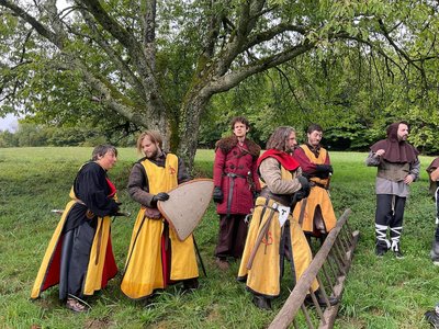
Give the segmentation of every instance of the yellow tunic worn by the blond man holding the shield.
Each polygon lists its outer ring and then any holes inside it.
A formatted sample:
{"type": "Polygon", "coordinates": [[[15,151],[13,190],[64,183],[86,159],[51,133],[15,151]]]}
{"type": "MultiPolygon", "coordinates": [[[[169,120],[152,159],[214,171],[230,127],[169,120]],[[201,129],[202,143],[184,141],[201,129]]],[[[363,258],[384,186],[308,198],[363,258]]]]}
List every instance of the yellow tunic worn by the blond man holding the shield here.
{"type": "MultiPolygon", "coordinates": [[[[172,154],[166,157],[165,168],[144,160],[142,164],[148,177],[149,193],[168,192],[178,185],[178,158],[172,154]]],[[[133,299],[148,297],[155,290],[165,288],[166,266],[164,266],[161,236],[164,218],[145,217],[145,208],[137,214],[131,238],[125,273],[122,279],[122,292],[133,299]]],[[[171,248],[170,280],[180,281],[199,276],[192,235],[180,241],[172,228],[169,228],[171,248]]]]}

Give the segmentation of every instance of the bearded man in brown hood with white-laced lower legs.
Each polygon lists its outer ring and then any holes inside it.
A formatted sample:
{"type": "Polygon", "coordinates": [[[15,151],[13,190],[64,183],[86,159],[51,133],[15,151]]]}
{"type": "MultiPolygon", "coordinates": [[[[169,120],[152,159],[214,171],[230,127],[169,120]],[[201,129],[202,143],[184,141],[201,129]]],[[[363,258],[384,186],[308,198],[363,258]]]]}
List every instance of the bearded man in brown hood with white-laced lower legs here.
{"type": "Polygon", "coordinates": [[[405,202],[408,185],[419,177],[418,151],[406,140],[408,124],[404,121],[387,127],[387,138],[371,146],[367,166],[378,167],[375,193],[375,253],[382,257],[392,250],[396,258],[403,258],[399,238],[403,231],[405,202]],[[387,239],[390,229],[390,239],[387,239]]]}

